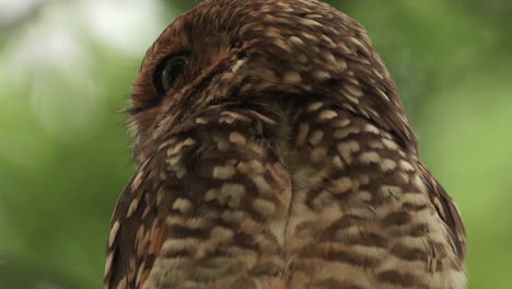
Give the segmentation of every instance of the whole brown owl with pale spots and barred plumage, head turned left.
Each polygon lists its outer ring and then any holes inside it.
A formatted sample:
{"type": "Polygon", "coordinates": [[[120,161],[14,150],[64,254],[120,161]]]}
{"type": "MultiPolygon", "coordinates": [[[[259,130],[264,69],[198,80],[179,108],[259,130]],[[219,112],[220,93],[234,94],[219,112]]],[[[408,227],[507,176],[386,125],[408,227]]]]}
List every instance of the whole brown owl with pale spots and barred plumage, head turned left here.
{"type": "Polygon", "coordinates": [[[206,0],[148,50],[105,288],[465,288],[455,204],[354,20],[206,0]]]}

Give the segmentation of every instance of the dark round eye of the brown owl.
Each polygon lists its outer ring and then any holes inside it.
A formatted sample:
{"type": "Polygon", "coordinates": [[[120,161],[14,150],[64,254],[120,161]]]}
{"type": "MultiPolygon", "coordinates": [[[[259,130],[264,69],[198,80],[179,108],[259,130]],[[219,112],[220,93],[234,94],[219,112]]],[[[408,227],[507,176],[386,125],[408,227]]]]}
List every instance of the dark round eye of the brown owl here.
{"type": "Polygon", "coordinates": [[[167,92],[173,88],[176,80],[185,71],[187,66],[187,58],[184,56],[172,56],[162,63],[155,70],[154,73],[154,85],[161,93],[167,92]]]}

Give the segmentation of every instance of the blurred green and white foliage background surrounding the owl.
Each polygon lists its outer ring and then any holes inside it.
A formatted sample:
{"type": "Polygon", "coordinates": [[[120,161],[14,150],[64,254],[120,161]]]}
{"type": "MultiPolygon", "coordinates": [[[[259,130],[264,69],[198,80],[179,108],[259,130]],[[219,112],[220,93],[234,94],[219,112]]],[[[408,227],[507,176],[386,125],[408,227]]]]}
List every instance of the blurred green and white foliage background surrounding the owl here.
{"type": "MultiPolygon", "coordinates": [[[[197,1],[0,1],[0,288],[101,288],[133,167],[121,108],[197,1]]],[[[468,231],[470,288],[512,288],[512,1],[329,1],[395,77],[468,231]]]]}

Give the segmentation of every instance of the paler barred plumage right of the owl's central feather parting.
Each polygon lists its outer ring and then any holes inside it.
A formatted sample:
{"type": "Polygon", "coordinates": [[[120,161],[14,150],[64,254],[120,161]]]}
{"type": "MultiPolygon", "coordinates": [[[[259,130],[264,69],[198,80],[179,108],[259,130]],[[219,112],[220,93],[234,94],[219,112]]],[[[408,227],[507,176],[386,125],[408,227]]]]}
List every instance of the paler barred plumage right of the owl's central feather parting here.
{"type": "Polygon", "coordinates": [[[416,155],[322,102],[291,126],[291,196],[279,228],[289,288],[464,288],[416,155]]]}

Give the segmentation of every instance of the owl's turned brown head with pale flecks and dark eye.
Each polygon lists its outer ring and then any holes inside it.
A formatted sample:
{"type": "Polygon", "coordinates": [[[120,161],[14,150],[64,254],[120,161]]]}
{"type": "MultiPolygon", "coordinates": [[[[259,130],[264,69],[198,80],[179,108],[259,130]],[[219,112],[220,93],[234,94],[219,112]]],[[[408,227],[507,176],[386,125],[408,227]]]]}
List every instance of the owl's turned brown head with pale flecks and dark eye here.
{"type": "Polygon", "coordinates": [[[149,48],[133,85],[137,146],[222,103],[331,100],[415,142],[365,30],[316,0],[205,0],[149,48]]]}

